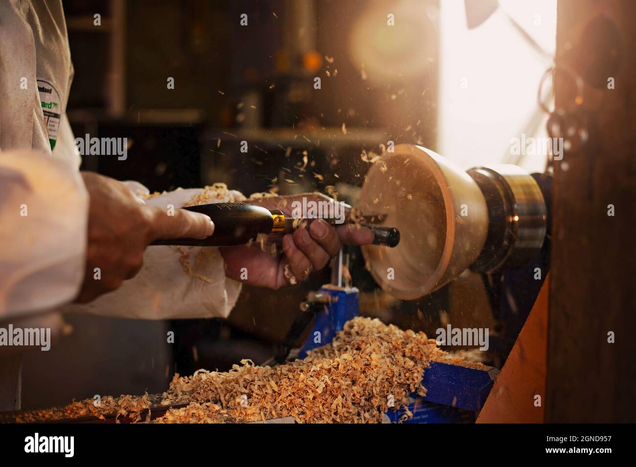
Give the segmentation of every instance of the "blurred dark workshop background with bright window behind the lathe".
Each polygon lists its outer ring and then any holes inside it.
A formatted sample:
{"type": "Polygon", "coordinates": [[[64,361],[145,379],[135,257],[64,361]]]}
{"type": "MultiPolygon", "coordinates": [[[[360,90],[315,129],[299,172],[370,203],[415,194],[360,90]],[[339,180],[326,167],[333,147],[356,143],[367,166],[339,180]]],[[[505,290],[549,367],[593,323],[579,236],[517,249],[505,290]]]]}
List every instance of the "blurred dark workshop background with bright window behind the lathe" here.
{"type": "MultiPolygon", "coordinates": [[[[74,133],[130,144],[127,160],[86,156],[82,169],[151,191],[225,182],[247,196],[317,190],[354,205],[364,151],[389,141],[464,168],[505,162],[541,172],[545,158],[509,147],[511,137],[544,132],[537,90],[550,58],[531,43],[553,55],[556,0],[499,4],[469,29],[463,0],[64,0],[74,133]],[[394,27],[382,27],[387,12],[394,27]]],[[[488,296],[480,275],[398,301],[378,289],[359,252],[352,258],[363,315],[431,337],[446,323],[490,328],[487,358],[501,367],[525,316],[495,312],[501,297],[488,296]]],[[[66,339],[25,355],[23,408],[159,393],[174,372],[264,362],[307,292],[328,281],[326,271],[285,290],[245,287],[225,321],[67,316],[66,339]]]]}

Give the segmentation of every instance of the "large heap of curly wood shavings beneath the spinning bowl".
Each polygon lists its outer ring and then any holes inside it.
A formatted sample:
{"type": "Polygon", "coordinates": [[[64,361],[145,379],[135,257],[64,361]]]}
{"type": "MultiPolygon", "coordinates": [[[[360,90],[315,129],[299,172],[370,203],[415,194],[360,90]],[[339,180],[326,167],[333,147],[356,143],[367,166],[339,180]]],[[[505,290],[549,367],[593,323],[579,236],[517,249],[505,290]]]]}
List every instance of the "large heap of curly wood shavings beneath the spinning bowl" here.
{"type": "Polygon", "coordinates": [[[214,402],[237,420],[291,416],[298,423],[378,423],[389,410],[389,396],[397,409],[413,391],[425,395],[424,369],[444,354],[423,332],[357,317],[304,360],[277,367],[242,360],[229,372],[175,375],[162,403],[190,405],[158,421],[193,421],[200,414],[209,421],[214,417],[204,403],[214,402]]]}

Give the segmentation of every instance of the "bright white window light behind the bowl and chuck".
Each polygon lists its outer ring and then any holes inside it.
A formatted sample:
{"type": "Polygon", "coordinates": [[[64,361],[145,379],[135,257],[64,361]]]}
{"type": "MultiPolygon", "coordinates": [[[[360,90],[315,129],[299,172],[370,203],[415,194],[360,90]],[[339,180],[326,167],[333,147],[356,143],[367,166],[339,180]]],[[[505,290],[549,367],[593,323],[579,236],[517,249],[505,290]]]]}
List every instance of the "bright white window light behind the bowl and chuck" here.
{"type": "Polygon", "coordinates": [[[464,0],[439,3],[439,154],[464,168],[515,163],[543,172],[546,154],[516,154],[511,140],[547,137],[537,91],[551,60],[530,46],[507,15],[553,55],[556,0],[500,0],[499,9],[472,30],[464,0]]]}

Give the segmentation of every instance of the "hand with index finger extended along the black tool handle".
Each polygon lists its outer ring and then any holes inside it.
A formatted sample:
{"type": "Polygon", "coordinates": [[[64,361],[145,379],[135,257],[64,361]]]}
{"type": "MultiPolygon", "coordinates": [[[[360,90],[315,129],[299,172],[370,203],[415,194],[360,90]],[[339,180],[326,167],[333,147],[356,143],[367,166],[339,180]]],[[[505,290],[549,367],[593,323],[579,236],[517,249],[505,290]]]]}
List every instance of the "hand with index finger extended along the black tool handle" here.
{"type": "Polygon", "coordinates": [[[205,238],[214,232],[204,214],[176,209],[174,215],[148,206],[127,186],[97,173],[82,172],[90,196],[86,273],[77,302],[115,290],[141,269],[144,250],[158,238],[205,238]],[[95,279],[99,267],[100,278],[95,279]]]}

